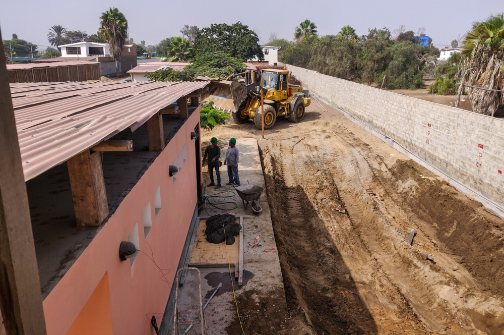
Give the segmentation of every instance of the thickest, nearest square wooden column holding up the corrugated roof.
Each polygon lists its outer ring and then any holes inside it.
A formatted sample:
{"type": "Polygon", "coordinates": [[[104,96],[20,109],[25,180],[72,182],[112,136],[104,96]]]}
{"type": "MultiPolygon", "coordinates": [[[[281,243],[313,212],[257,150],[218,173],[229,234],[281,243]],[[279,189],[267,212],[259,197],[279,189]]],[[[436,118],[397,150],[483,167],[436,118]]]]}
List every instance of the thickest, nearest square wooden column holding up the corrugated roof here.
{"type": "Polygon", "coordinates": [[[101,154],[89,149],[67,160],[77,226],[100,226],[108,215],[101,154]]]}

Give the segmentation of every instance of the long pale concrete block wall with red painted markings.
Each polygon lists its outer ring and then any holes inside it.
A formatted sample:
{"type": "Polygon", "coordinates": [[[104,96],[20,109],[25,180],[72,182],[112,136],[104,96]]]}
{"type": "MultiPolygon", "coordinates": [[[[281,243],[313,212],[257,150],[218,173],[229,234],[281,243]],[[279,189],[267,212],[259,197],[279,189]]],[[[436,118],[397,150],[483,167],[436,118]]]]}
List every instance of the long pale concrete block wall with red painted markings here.
{"type": "Polygon", "coordinates": [[[286,66],[310,93],[340,107],[371,132],[393,139],[424,166],[434,167],[454,186],[504,215],[503,120],[286,66]]]}

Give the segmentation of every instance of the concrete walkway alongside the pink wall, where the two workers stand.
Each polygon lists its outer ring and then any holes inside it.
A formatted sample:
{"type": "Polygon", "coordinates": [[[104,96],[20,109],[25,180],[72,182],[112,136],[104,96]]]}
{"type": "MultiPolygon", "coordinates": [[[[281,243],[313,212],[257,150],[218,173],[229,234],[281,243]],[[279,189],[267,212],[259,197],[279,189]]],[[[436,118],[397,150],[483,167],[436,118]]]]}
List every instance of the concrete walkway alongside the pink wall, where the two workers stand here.
{"type": "MultiPolygon", "coordinates": [[[[225,156],[227,148],[227,139],[221,140],[221,155],[225,156]]],[[[256,139],[239,138],[237,139],[236,147],[240,151],[240,162],[238,165],[238,173],[241,185],[250,184],[259,185],[265,188],[263,170],[261,168],[261,160],[256,139]]],[[[223,158],[222,158],[223,160],[223,158]]],[[[206,167],[204,176],[207,174],[206,167]]],[[[228,182],[227,166],[221,167],[221,183],[223,186],[228,182]]],[[[209,183],[208,175],[204,178],[205,185],[209,183]]],[[[204,189],[204,194],[218,193],[214,191],[214,187],[204,189]]],[[[238,205],[236,209],[220,210],[207,204],[200,210],[200,216],[208,216],[214,214],[224,214],[233,212],[236,216],[253,215],[250,206],[247,210],[243,209],[242,201],[238,195],[232,198],[211,198],[213,202],[234,201],[238,205]]],[[[285,301],[285,290],[282,280],[282,272],[280,261],[278,259],[277,246],[273,235],[273,227],[271,223],[270,209],[268,206],[268,198],[266,190],[261,196],[262,212],[254,218],[243,219],[243,286],[238,286],[238,281],[234,279],[234,267],[231,267],[232,283],[238,302],[240,297],[246,292],[253,294],[257,301],[280,301],[277,307],[282,310],[287,310],[285,301]],[[262,247],[254,247],[255,236],[259,235],[263,241],[262,247]]],[[[229,205],[229,204],[228,204],[229,205]]],[[[232,206],[231,206],[232,207],[232,206]]],[[[229,206],[228,206],[229,208],[229,206]]],[[[208,334],[228,334],[226,330],[231,322],[236,321],[236,305],[233,298],[231,278],[229,268],[200,268],[202,281],[202,300],[206,303],[211,294],[220,285],[217,294],[211,300],[208,307],[205,309],[205,317],[207,321],[208,334]]],[[[197,302],[198,278],[196,271],[188,273],[184,286],[179,289],[179,309],[191,308],[191,304],[197,302]]],[[[238,311],[240,311],[240,303],[238,303],[238,311]]],[[[247,313],[240,312],[242,322],[247,322],[247,313]]],[[[185,329],[185,327],[181,327],[185,329]]],[[[194,326],[189,332],[190,334],[201,333],[201,328],[194,326]]]]}

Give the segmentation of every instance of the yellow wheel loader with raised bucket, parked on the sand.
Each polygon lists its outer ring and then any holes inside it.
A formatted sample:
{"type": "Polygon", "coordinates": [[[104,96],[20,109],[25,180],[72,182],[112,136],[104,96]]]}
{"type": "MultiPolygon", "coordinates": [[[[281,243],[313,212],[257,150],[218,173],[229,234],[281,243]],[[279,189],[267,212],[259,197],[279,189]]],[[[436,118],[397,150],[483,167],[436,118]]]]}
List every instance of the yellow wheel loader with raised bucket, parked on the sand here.
{"type": "MultiPolygon", "coordinates": [[[[264,129],[271,129],[277,117],[284,116],[291,122],[304,118],[305,107],[311,99],[299,85],[289,84],[287,70],[247,70],[245,85],[235,81],[198,77],[197,81],[210,81],[208,90],[203,92],[202,101],[214,101],[214,107],[228,111],[234,122],[254,122],[262,128],[261,90],[264,103],[264,129]]],[[[230,76],[228,79],[232,79],[230,76]]]]}

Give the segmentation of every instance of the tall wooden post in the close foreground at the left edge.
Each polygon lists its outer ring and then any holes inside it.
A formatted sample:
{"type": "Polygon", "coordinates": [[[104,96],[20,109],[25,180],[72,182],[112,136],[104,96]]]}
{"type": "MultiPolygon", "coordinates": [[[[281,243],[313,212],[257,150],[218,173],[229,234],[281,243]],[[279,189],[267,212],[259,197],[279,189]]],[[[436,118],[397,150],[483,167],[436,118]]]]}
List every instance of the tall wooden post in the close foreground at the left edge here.
{"type": "MultiPolygon", "coordinates": [[[[1,43],[0,54],[4,54],[1,43]]],[[[46,334],[28,196],[4,57],[0,57],[0,310],[8,335],[46,334]]]]}

